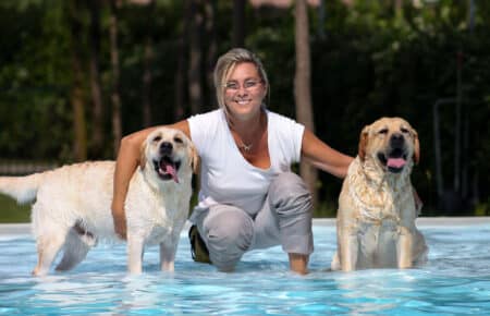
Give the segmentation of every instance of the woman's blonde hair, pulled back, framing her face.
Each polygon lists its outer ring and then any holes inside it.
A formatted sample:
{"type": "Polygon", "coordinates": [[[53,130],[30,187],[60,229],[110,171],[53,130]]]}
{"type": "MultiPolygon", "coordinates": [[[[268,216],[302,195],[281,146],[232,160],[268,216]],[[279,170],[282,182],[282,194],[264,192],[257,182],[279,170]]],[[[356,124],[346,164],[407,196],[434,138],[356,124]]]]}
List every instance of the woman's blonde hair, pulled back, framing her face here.
{"type": "MultiPolygon", "coordinates": [[[[218,106],[223,109],[224,113],[228,116],[226,105],[224,104],[224,90],[226,85],[226,80],[230,73],[238,63],[252,62],[257,68],[257,72],[262,81],[262,84],[267,88],[267,95],[269,94],[269,80],[267,78],[266,70],[264,69],[260,59],[252,51],[245,48],[233,48],[226,53],[222,54],[215,68],[215,88],[216,98],[218,100],[218,106]]],[[[262,107],[266,107],[262,102],[262,107]]]]}

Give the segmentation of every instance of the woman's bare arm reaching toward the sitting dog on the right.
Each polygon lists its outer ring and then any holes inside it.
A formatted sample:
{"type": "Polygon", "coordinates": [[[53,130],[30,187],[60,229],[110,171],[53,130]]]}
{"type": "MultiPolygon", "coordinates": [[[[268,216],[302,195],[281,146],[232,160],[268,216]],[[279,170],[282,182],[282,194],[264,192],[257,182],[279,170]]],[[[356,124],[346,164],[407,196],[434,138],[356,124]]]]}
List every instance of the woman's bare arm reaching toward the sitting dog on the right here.
{"type": "Polygon", "coordinates": [[[354,159],[331,148],[307,129],[303,134],[302,156],[316,168],[339,178],[345,178],[354,159]]]}

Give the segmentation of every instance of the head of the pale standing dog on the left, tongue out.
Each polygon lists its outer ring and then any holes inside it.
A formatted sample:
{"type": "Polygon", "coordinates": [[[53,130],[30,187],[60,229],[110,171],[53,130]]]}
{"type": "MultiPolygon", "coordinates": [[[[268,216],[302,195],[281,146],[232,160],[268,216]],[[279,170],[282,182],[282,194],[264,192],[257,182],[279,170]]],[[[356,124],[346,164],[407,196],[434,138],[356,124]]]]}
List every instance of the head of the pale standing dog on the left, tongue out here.
{"type": "Polygon", "coordinates": [[[183,132],[159,127],[144,142],[139,161],[142,170],[155,171],[159,180],[179,183],[181,177],[196,172],[199,159],[194,144],[183,132]]]}

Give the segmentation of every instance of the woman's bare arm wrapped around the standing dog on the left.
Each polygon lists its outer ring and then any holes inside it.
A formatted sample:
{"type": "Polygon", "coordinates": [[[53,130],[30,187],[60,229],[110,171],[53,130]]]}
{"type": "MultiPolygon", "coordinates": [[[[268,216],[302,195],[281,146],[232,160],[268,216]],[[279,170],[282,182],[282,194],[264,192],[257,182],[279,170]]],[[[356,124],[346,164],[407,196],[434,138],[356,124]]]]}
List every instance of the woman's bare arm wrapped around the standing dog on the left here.
{"type": "MultiPolygon", "coordinates": [[[[166,127],[177,129],[189,137],[189,127],[186,120],[166,127]]],[[[115,233],[121,239],[126,239],[126,216],[124,203],[130,187],[130,181],[139,163],[139,150],[146,137],[157,127],[149,127],[139,132],[124,136],[118,153],[114,170],[113,196],[112,196],[112,218],[115,233]]]]}

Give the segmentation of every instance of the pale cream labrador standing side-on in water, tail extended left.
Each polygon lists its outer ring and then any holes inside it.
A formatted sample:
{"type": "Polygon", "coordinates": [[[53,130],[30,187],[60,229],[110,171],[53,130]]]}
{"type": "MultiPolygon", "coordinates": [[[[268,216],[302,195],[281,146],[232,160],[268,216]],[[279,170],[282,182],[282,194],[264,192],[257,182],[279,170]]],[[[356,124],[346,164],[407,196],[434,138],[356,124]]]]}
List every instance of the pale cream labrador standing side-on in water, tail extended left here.
{"type": "MultiPolygon", "coordinates": [[[[125,203],[130,272],[142,271],[146,244],[160,245],[162,270],[174,269],[197,159],[194,145],[177,130],[160,127],[145,141],[125,203]]],[[[114,167],[114,161],[94,161],[0,178],[0,192],[20,203],[35,200],[32,227],[38,263],[34,275],[48,274],[61,250],[57,270],[68,270],[81,263],[97,241],[119,241],[111,215],[114,167]]]]}

